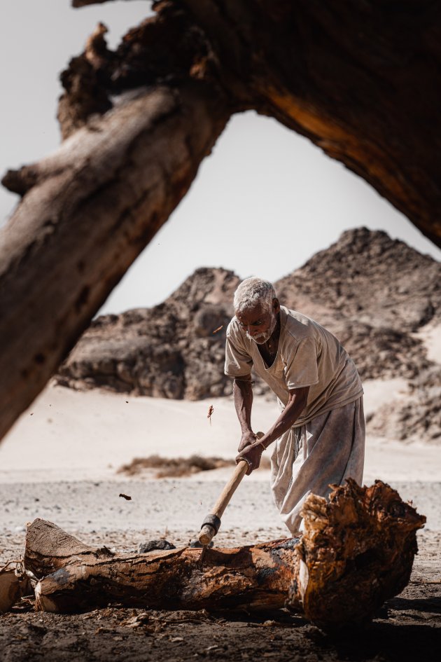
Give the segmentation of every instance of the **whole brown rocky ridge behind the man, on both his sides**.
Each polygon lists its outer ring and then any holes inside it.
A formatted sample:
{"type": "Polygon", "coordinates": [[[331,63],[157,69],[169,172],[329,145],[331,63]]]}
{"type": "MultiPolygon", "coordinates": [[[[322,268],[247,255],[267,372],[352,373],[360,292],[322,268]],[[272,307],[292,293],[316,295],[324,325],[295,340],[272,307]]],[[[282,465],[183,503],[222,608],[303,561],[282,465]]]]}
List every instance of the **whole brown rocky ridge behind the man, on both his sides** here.
{"type": "MultiPolygon", "coordinates": [[[[225,329],[238,283],[230,271],[201,268],[154,308],[99,317],[57,381],[177,399],[230,394],[225,329]]],[[[414,379],[430,368],[414,332],[441,317],[441,264],[386,233],[349,230],[275,287],[281,303],[335,333],[362,378],[414,379]]]]}

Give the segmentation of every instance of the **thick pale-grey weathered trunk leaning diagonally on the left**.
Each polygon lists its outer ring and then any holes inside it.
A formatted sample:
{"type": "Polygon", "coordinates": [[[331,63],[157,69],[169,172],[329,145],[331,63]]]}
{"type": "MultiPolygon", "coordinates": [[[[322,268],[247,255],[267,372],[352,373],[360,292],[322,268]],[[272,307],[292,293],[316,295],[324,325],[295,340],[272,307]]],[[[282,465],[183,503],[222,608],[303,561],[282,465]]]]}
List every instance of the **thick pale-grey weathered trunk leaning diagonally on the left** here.
{"type": "Polygon", "coordinates": [[[216,91],[139,90],[52,156],[0,240],[0,437],[185,195],[228,118],[216,91]]]}

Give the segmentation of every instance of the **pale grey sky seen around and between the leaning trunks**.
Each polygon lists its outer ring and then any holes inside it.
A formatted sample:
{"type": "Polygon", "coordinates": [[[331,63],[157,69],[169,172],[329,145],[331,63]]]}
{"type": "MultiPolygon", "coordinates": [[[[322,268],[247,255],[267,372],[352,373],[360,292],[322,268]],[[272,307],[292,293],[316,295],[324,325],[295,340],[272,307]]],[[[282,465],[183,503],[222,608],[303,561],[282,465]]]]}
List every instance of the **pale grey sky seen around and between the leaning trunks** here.
{"type": "MultiPolygon", "coordinates": [[[[0,172],[54,151],[59,72],[99,20],[111,48],[150,11],[148,0],[72,9],[69,0],[14,0],[0,21],[0,172]]],[[[0,217],[18,198],[0,190],[0,217]]],[[[441,260],[441,251],[373,188],[275,120],[235,116],[186,198],[113,290],[101,312],[163,301],[201,266],[276,280],[343,230],[386,230],[441,260]]]]}

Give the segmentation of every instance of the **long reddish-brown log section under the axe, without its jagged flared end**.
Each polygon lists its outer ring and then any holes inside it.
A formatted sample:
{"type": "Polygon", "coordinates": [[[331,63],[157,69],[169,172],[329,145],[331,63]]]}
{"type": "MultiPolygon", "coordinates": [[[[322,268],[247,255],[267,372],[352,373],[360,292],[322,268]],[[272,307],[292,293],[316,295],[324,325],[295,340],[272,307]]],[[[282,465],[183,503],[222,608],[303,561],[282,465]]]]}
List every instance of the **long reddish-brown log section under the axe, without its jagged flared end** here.
{"type": "Polygon", "coordinates": [[[278,609],[297,565],[296,539],[237,549],[183,547],[113,554],[83,545],[36,519],[26,537],[25,567],[43,578],[36,609],[72,612],[109,602],[160,609],[278,609]]]}

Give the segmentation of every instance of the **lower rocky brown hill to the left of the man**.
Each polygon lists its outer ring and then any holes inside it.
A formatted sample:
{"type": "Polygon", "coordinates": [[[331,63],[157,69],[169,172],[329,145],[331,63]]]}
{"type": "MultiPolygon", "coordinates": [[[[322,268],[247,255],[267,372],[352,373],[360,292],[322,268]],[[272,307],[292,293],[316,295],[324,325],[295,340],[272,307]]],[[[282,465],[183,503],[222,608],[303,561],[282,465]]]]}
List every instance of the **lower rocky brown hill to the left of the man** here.
{"type": "Polygon", "coordinates": [[[98,317],[57,382],[175,399],[229,394],[225,331],[237,284],[231,271],[201,268],[160,305],[98,317]]]}

